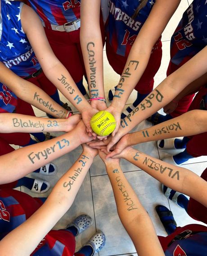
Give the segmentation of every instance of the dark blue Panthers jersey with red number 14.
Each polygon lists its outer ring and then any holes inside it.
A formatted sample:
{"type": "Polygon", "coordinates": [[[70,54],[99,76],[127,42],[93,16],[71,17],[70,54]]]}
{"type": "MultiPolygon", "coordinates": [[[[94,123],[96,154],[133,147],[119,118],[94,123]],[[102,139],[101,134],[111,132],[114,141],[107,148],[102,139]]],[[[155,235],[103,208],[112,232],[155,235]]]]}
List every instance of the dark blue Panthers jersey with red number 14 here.
{"type": "Polygon", "coordinates": [[[131,17],[139,6],[138,0],[109,0],[107,41],[113,51],[128,56],[141,27],[148,18],[155,0],[148,0],[135,19],[131,17]]]}

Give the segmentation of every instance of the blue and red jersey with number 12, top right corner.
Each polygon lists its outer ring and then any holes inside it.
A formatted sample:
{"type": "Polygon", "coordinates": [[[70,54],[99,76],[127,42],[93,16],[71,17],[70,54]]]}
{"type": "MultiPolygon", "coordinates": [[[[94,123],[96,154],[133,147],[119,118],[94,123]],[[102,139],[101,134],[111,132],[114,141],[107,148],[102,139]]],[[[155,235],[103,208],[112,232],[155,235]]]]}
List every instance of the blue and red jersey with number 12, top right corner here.
{"type": "Polygon", "coordinates": [[[193,0],[171,38],[171,62],[182,66],[207,46],[207,0],[193,0]]]}

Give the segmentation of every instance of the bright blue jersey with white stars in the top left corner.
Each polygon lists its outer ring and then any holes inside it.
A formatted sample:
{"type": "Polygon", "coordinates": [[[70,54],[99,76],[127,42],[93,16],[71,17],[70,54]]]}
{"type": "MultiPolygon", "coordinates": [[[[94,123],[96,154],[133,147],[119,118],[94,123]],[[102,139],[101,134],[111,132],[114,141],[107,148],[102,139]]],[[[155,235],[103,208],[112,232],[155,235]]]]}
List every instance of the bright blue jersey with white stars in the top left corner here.
{"type": "Polygon", "coordinates": [[[0,61],[24,78],[40,69],[40,64],[22,29],[22,5],[23,3],[18,1],[1,0],[0,61]]]}

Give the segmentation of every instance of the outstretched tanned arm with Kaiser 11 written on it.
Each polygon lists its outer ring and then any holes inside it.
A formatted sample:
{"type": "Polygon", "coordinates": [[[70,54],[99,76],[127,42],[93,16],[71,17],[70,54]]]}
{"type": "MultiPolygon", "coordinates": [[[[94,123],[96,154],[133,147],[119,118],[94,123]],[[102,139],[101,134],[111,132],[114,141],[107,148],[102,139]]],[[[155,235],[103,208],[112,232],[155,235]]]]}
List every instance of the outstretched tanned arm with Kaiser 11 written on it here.
{"type": "MultiPolygon", "coordinates": [[[[135,133],[127,133],[114,146],[114,150],[107,155],[116,157],[127,146],[133,146],[143,142],[157,141],[162,139],[191,136],[207,132],[207,111],[191,110],[174,119],[151,126],[135,133]],[[193,124],[193,125],[192,125],[193,124]]],[[[110,138],[108,139],[108,141],[110,138]]],[[[104,148],[107,141],[89,142],[94,148],[104,148]]]]}

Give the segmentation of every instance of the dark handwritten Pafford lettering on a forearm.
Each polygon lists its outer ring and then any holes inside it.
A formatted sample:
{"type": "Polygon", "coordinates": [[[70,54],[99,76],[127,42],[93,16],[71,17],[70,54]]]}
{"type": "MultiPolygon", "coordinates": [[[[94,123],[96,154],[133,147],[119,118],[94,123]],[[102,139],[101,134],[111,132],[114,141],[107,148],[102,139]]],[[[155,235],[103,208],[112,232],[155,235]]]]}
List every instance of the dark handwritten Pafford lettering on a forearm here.
{"type": "MultiPolygon", "coordinates": [[[[155,97],[156,101],[162,102],[164,96],[163,96],[163,95],[161,94],[161,92],[158,91],[157,89],[155,89],[154,91],[156,91],[157,94],[154,93],[154,92],[150,93],[150,94],[144,99],[145,102],[144,102],[144,103],[140,103],[140,105],[141,105],[140,110],[143,111],[143,110],[145,110],[146,108],[151,108],[151,107],[153,106],[153,103],[152,103],[152,101],[150,101],[150,100],[152,100],[154,97],[155,97]]],[[[121,120],[121,127],[122,127],[122,128],[126,128],[126,126],[129,125],[128,123],[132,121],[132,120],[131,120],[131,117],[132,117],[133,115],[135,115],[138,111],[139,111],[139,107],[137,106],[130,114],[128,114],[128,115],[126,116],[126,118],[124,118],[123,120],[121,120]]]]}

